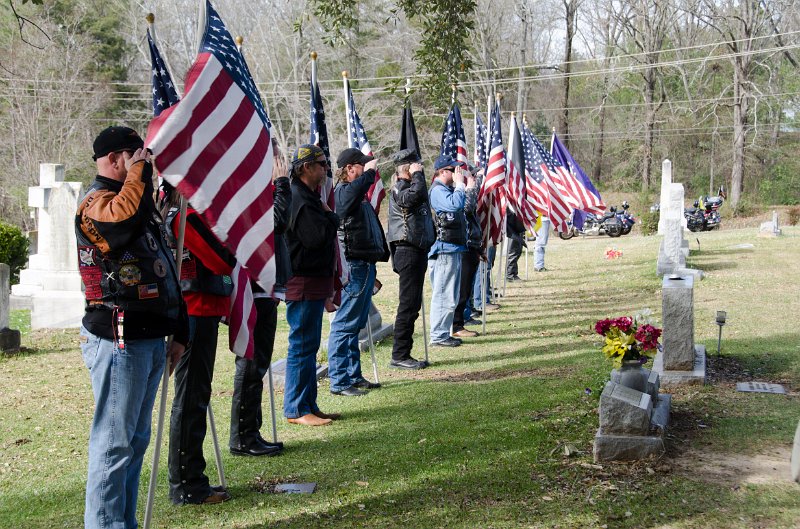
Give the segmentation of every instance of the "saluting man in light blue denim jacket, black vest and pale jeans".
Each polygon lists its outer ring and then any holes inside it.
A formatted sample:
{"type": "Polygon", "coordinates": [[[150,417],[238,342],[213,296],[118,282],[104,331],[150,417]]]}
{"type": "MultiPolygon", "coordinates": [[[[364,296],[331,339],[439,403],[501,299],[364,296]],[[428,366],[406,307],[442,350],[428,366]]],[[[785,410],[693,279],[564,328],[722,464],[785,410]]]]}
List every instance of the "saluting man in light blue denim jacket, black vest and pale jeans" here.
{"type": "MultiPolygon", "coordinates": [[[[430,202],[434,212],[436,242],[428,253],[433,296],[431,298],[432,345],[458,347],[459,338],[450,335],[461,282],[461,254],[467,251],[467,222],[464,216],[464,175],[457,162],[439,156],[433,166],[430,202]],[[455,184],[455,187],[453,185],[455,184]]],[[[467,176],[467,185],[475,179],[467,176]]]]}

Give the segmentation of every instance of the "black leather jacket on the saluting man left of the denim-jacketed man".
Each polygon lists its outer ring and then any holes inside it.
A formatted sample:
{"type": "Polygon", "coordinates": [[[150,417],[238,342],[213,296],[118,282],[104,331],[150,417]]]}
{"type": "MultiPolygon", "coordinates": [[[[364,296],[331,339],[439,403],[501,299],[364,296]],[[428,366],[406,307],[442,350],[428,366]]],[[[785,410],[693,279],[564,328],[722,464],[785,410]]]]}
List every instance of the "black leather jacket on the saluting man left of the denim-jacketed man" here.
{"type": "Polygon", "coordinates": [[[425,175],[417,171],[411,181],[397,179],[389,193],[390,243],[407,243],[428,251],[436,240],[428,202],[425,175]]]}

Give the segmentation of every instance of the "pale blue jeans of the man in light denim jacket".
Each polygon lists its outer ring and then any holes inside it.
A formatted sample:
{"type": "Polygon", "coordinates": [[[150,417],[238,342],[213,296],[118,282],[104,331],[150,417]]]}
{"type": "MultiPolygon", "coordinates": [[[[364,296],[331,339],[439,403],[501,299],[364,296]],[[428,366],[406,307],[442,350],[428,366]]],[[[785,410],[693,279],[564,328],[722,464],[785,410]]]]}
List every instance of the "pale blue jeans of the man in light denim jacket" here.
{"type": "Polygon", "coordinates": [[[450,327],[458,304],[461,283],[461,254],[440,253],[428,260],[431,274],[431,343],[450,338],[450,327]]]}

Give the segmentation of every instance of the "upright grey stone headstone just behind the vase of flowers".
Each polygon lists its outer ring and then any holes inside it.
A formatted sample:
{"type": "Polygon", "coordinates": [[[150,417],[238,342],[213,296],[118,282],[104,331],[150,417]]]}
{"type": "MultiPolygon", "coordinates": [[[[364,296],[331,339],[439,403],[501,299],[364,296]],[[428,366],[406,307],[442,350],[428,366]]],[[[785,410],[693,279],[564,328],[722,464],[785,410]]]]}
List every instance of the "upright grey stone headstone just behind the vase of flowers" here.
{"type": "Polygon", "coordinates": [[[662,282],[664,369],[686,371],[694,366],[694,278],[666,276],[662,282]]]}

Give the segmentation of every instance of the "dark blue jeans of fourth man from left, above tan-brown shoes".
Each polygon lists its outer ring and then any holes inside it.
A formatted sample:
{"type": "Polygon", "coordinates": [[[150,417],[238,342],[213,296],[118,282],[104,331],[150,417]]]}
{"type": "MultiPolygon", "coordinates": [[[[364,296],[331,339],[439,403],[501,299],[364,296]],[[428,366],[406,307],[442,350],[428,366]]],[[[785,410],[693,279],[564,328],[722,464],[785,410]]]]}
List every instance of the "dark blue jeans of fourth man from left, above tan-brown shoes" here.
{"type": "Polygon", "coordinates": [[[317,351],[322,336],[322,311],[325,300],[287,301],[289,352],[286,355],[286,382],[283,415],[297,419],[319,411],[317,407],[317,351]]]}

